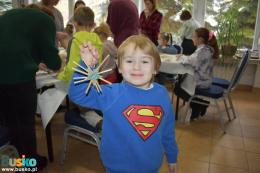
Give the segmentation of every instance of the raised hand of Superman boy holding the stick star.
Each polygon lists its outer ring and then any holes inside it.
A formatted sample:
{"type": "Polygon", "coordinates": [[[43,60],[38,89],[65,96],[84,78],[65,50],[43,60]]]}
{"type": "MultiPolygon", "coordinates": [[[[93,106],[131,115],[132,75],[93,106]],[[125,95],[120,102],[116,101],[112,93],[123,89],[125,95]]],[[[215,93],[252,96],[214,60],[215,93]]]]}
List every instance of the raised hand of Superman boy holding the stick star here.
{"type": "Polygon", "coordinates": [[[90,42],[80,46],[80,56],[85,64],[94,66],[98,63],[98,51],[90,42]]]}

